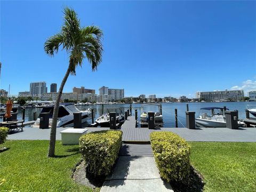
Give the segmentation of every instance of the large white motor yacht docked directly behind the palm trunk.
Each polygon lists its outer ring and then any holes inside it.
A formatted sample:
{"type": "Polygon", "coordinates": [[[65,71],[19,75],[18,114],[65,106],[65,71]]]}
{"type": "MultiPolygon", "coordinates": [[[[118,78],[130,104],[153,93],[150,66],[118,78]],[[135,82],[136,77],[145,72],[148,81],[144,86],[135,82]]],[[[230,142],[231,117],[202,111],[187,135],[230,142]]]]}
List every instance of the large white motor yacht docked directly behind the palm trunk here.
{"type": "MultiPolygon", "coordinates": [[[[54,106],[45,106],[43,107],[41,113],[50,113],[49,118],[49,127],[52,125],[52,116],[53,116],[54,106]]],[[[74,126],[74,113],[82,113],[82,123],[85,123],[87,117],[91,116],[91,109],[81,111],[75,107],[73,103],[60,103],[58,118],[57,118],[57,127],[73,127],[74,126]]],[[[36,119],[36,122],[32,127],[39,127],[40,117],[36,119]]]]}

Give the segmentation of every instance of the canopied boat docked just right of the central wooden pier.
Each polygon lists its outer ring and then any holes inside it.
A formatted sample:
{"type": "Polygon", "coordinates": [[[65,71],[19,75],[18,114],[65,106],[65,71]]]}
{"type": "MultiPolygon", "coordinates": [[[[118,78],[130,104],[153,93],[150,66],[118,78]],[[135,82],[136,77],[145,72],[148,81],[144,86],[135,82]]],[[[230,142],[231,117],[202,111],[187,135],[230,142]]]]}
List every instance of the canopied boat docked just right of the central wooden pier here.
{"type": "Polygon", "coordinates": [[[140,126],[141,127],[148,126],[148,112],[143,111],[143,108],[145,108],[146,106],[158,106],[158,112],[155,112],[155,117],[154,117],[155,127],[162,127],[164,125],[164,122],[163,122],[163,116],[160,113],[161,105],[157,103],[148,103],[145,105],[141,105],[140,126]]]}

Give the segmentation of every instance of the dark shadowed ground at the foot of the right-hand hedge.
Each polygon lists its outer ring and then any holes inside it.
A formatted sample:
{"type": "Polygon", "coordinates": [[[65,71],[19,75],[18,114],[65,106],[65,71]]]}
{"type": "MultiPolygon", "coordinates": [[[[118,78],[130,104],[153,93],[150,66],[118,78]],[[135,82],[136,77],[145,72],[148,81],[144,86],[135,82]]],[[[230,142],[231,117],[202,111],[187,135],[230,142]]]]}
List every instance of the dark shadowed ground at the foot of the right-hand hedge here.
{"type": "Polygon", "coordinates": [[[205,185],[203,177],[194,169],[193,166],[190,166],[188,183],[171,181],[170,184],[175,192],[201,192],[205,185]]]}

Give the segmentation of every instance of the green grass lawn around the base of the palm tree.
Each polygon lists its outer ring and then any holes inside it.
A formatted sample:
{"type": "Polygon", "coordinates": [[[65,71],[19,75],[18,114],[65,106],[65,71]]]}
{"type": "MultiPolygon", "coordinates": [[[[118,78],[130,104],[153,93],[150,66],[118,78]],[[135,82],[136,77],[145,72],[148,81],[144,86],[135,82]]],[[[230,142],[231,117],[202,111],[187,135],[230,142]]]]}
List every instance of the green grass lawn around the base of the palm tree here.
{"type": "MultiPolygon", "coordinates": [[[[20,191],[93,191],[71,179],[72,169],[82,158],[78,146],[56,143],[57,157],[48,158],[49,141],[6,141],[0,153],[0,179],[6,189],[20,191]]],[[[1,191],[1,188],[0,188],[1,191]]]]}

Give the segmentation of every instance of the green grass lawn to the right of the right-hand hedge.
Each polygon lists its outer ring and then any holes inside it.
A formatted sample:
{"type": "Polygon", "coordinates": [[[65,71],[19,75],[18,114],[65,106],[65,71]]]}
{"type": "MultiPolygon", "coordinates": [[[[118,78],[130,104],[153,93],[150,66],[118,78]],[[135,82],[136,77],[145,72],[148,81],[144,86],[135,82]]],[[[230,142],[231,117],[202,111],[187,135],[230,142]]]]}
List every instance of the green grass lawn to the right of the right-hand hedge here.
{"type": "Polygon", "coordinates": [[[189,142],[205,191],[256,191],[256,143],[189,142]]]}

